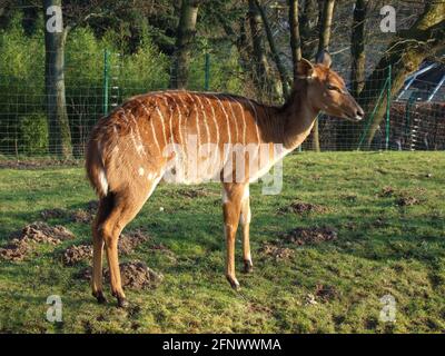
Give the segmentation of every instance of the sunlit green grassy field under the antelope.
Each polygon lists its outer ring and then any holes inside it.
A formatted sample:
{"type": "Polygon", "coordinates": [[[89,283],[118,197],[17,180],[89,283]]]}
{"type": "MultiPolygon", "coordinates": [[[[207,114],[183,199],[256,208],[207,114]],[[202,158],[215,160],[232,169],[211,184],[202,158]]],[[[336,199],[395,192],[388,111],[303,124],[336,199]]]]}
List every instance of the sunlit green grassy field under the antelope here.
{"type": "MultiPolygon", "coordinates": [[[[146,229],[152,240],[121,257],[161,273],[158,288],[127,290],[131,305],[123,310],[107,283],[109,303],[96,304],[88,281],[75,278],[89,261],[66,267],[60,260],[68,246],[90,241],[90,227],[53,218],[48,222],[66,226],[75,241],[38,246],[23,261],[0,260],[0,332],[445,332],[443,152],[301,154],[285,159],[284,174],[279,196],[251,187],[255,270],[241,273],[238,240],[240,291],[224,276],[220,187],[161,185],[127,228],[146,229]],[[294,201],[317,209],[286,209],[294,201]],[[337,239],[298,246],[280,238],[296,227],[324,226],[337,239]],[[273,256],[265,246],[290,253],[273,256]],[[46,320],[49,295],[62,298],[62,323],[46,320]],[[385,295],[395,298],[394,323],[379,319],[385,295]]],[[[81,167],[1,169],[0,244],[41,220],[43,209],[76,210],[91,199],[81,167]]]]}

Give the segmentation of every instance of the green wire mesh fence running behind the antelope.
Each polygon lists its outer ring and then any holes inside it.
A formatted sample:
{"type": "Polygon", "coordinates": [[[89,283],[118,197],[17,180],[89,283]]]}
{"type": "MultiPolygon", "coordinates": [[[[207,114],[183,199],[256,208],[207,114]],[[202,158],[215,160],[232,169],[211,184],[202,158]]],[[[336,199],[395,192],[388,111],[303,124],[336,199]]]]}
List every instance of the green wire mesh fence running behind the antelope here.
{"type": "MultiPolygon", "coordinates": [[[[4,62],[0,68],[0,155],[4,157],[55,154],[51,137],[60,132],[53,131],[48,123],[44,53],[37,52],[34,57],[28,71],[17,73],[16,68],[8,68],[4,62]]],[[[279,88],[269,85],[258,90],[249,85],[254,81],[251,75],[230,65],[237,61],[234,53],[229,52],[225,62],[220,62],[220,56],[208,51],[195,51],[191,57],[194,63],[188,89],[234,92],[258,101],[277,102],[279,88]]],[[[171,63],[162,68],[156,63],[147,65],[144,57],[130,61],[107,49],[75,55],[67,51],[62,110],[67,115],[73,156],[82,157],[88,135],[100,117],[131,96],[167,89],[174,80],[168,66],[171,63]]],[[[350,88],[349,72],[342,68],[338,71],[350,88]]],[[[365,87],[359,95],[367,102],[363,123],[319,116],[320,149],[445,149],[444,86],[437,81],[408,78],[409,86],[389,95],[388,69],[375,78],[375,86],[365,87]]],[[[312,150],[313,139],[309,137],[301,149],[312,150]]]]}

